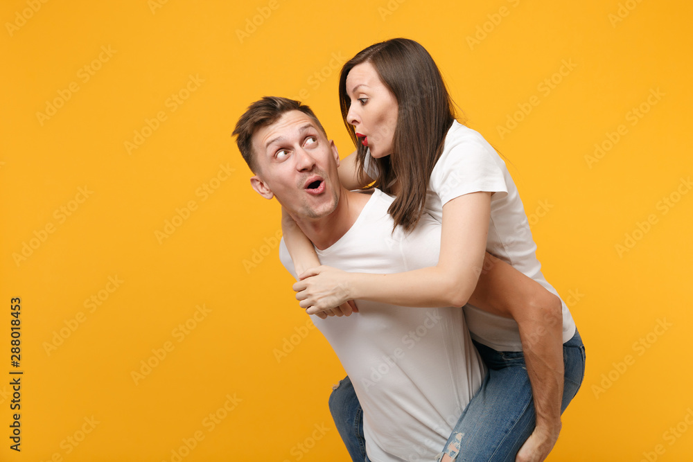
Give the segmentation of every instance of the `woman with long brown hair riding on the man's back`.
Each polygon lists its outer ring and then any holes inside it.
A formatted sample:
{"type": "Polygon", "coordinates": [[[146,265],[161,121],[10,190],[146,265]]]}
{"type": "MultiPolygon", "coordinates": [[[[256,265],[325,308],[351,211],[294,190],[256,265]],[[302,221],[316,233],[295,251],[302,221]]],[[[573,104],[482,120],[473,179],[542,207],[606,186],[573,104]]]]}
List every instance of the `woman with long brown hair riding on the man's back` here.
{"type": "MultiPolygon", "coordinates": [[[[505,163],[480,134],[455,121],[437,66],[421,45],[392,39],[358,53],[342,69],[340,105],[357,148],[342,161],[342,184],[356,189],[375,181],[374,186],[395,195],[389,213],[405,230],[416,226],[423,213],[439,220],[439,262],[387,276],[315,267],[294,286],[302,308],[316,314],[352,299],[463,306],[473,294],[486,251],[556,294],[541,274],[527,217],[505,163]]],[[[283,230],[297,268],[319,264],[312,245],[288,217],[283,230]]],[[[458,454],[458,460],[505,461],[516,454],[518,460],[543,460],[553,447],[560,414],[584,376],[584,346],[564,303],[557,330],[545,329],[541,307],[531,308],[513,313],[513,320],[464,307],[489,374],[450,435],[443,461],[458,454]],[[550,361],[537,362],[535,354],[550,361]],[[557,378],[552,369],[559,371],[557,378]],[[530,380],[541,391],[534,400],[530,380]],[[505,411],[489,412],[489,403],[505,411]]],[[[360,416],[357,402],[345,380],[331,397],[337,425],[360,416]]]]}

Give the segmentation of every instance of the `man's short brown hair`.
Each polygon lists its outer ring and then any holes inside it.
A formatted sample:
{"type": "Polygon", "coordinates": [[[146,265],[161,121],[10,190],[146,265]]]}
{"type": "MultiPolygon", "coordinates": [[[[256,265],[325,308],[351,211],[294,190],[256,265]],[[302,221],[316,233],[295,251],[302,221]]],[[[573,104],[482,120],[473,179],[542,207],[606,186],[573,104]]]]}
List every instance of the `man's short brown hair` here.
{"type": "Polygon", "coordinates": [[[320,131],[327,137],[325,129],[313,113],[310,107],[301,104],[300,101],[281,98],[279,96],[263,96],[261,100],[248,106],[243,116],[240,116],[234,129],[234,136],[238,136],[236,144],[240,154],[245,159],[253,173],[258,171],[258,166],[253,153],[253,135],[262,127],[271,125],[285,112],[300,111],[312,118],[320,131]]]}

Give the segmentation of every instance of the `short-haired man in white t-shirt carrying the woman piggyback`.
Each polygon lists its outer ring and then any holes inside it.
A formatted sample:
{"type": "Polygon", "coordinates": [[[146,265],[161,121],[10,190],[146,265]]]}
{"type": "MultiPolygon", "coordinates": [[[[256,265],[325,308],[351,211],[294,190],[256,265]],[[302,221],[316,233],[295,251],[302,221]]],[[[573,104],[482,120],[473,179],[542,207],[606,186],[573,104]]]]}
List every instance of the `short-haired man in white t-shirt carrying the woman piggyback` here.
{"type": "MultiPolygon", "coordinates": [[[[436,264],[439,223],[424,217],[410,233],[393,231],[387,213],[392,197],[344,190],[337,149],[308,107],[263,98],[240,118],[234,134],[256,174],[253,188],[266,199],[277,197],[324,265],[387,274],[436,264]]],[[[281,259],[296,276],[286,247],[281,259]]],[[[494,268],[482,274],[477,292],[484,293],[473,296],[480,308],[502,311],[500,305],[511,304],[498,290],[507,288],[498,276],[494,268]]],[[[368,458],[435,459],[486,373],[462,310],[369,301],[359,301],[358,308],[351,317],[314,322],[356,390],[368,458]]]]}

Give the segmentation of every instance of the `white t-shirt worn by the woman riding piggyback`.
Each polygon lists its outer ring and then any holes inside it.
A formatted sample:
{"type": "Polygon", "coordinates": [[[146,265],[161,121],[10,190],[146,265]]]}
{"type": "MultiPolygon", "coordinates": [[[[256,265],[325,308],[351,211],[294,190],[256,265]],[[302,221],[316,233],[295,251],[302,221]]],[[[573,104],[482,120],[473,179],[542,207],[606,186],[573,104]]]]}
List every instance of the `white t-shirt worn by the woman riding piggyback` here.
{"type": "MultiPolygon", "coordinates": [[[[366,155],[365,171],[371,178],[378,176],[370,153],[366,155]]],[[[486,251],[558,295],[541,274],[541,263],[536,258],[536,244],[532,231],[529,231],[525,208],[505,162],[481,134],[454,121],[446,135],[441,157],[431,173],[426,192],[426,212],[442,222],[444,204],[455,197],[478,191],[493,193],[486,251]]],[[[565,343],[575,334],[575,323],[568,306],[562,303],[565,343]]],[[[513,319],[484,312],[469,304],[464,306],[464,314],[476,341],[499,351],[522,350],[518,325],[513,319]]]]}

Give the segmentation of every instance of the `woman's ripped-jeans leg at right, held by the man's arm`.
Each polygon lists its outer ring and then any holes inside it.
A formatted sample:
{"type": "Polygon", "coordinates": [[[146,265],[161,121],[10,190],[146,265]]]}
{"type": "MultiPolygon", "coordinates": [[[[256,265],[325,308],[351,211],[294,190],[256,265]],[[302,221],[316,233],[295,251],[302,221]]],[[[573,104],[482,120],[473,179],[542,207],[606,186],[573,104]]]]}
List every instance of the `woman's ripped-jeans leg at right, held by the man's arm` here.
{"type": "MultiPolygon", "coordinates": [[[[499,352],[477,344],[489,372],[480,390],[462,412],[439,455],[453,461],[514,461],[534,431],[532,387],[522,352],[499,352]]],[[[580,335],[563,344],[565,384],[561,412],[582,383],[585,350],[580,335]]]]}

